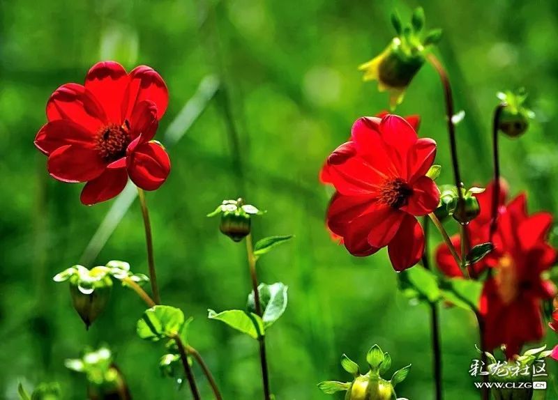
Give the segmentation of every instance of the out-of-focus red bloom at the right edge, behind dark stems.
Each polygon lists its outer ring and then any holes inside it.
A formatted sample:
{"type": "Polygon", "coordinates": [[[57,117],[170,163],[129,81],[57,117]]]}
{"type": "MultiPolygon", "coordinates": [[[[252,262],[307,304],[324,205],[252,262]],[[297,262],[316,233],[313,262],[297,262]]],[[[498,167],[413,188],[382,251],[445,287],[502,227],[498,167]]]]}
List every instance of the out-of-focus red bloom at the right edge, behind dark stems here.
{"type": "MultiPolygon", "coordinates": [[[[497,229],[492,238],[495,249],[478,263],[477,272],[491,269],[479,306],[485,321],[487,350],[505,345],[506,355],[512,357],[520,352],[523,344],[543,337],[541,300],[552,298],[556,288],[541,274],[552,267],[557,252],[547,242],[552,215],[527,215],[525,194],[506,204],[506,192],[504,185],[499,197],[497,229]]],[[[490,239],[493,195],[493,184],[478,195],[481,215],[468,229],[472,245],[490,239]]],[[[452,241],[456,248],[460,247],[459,238],[452,241]]],[[[448,257],[446,245],[437,250],[437,261],[448,275],[460,275],[457,264],[448,257]]]]}

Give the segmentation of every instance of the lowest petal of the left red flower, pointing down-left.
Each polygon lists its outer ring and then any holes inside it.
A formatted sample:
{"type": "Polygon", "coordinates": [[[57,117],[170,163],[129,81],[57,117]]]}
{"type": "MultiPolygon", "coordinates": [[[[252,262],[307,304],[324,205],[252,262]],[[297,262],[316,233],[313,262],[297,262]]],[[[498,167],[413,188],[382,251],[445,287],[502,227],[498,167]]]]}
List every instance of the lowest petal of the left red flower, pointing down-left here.
{"type": "Polygon", "coordinates": [[[80,200],[86,206],[100,203],[117,196],[128,182],[126,168],[107,168],[97,178],[84,186],[80,200]]]}

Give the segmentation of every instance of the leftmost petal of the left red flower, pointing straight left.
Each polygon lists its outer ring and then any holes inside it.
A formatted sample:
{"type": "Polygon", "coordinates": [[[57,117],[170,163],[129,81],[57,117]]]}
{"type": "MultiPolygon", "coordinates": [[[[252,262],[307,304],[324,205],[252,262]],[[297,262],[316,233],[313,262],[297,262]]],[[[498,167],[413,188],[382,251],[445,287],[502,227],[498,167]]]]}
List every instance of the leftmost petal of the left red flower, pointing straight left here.
{"type": "Polygon", "coordinates": [[[67,144],[82,148],[94,148],[96,138],[82,125],[68,119],[46,123],[35,137],[35,146],[46,155],[67,144]]]}

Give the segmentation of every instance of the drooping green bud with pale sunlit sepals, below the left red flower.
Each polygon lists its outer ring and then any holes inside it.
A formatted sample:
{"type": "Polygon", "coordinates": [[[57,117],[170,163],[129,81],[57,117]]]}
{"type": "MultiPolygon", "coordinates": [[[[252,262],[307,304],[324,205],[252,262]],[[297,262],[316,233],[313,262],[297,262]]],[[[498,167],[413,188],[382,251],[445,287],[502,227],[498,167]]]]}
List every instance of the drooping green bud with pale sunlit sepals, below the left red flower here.
{"type": "Polygon", "coordinates": [[[110,268],[98,266],[88,270],[84,266],[73,266],[54,277],[55,282],[66,280],[70,282],[73,307],[89,329],[110,299],[112,291],[110,268]]]}

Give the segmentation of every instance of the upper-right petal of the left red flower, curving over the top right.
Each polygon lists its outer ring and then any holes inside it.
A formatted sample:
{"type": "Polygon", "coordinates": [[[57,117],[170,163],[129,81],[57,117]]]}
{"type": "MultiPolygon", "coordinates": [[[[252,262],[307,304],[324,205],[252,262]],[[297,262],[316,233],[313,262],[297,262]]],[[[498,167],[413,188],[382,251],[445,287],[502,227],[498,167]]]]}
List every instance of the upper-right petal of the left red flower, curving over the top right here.
{"type": "Polygon", "coordinates": [[[157,118],[162,118],[169,102],[169,92],[163,78],[148,66],[136,67],[128,76],[130,82],[122,103],[123,117],[129,119],[139,102],[151,100],[157,106],[157,118]]]}

